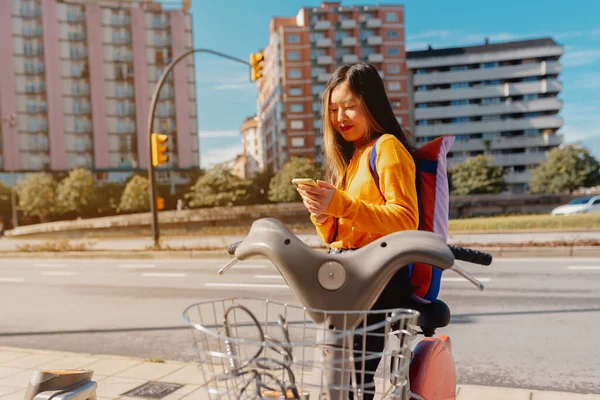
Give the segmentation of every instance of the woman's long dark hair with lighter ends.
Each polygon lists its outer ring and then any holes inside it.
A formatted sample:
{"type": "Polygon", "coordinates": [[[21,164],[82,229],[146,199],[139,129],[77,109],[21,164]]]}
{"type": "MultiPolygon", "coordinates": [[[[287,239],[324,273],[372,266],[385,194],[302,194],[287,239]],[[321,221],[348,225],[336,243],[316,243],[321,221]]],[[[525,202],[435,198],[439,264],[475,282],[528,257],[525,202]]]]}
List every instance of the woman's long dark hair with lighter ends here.
{"type": "Polygon", "coordinates": [[[389,133],[398,138],[411,154],[415,150],[410,134],[402,129],[394,115],[377,69],[366,63],[342,65],[329,78],[322,98],[325,173],[327,179],[338,187],[343,182],[343,176],[354,152],[353,144],[333,128],[329,115],[331,92],[344,82],[366,111],[369,120],[368,139],[389,133]]]}

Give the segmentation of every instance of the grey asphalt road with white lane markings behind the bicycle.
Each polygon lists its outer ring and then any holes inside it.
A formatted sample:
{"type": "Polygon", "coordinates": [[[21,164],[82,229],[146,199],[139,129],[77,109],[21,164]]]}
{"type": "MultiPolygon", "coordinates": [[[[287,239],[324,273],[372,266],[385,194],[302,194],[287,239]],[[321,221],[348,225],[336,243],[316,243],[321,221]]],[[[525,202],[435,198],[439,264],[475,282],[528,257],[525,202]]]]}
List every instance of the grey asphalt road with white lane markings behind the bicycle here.
{"type": "MultiPolygon", "coordinates": [[[[0,346],[195,360],[182,311],[233,296],[293,302],[265,260],[0,260],[0,346]]],[[[497,259],[440,298],[459,383],[600,393],[600,257],[497,259]]]]}

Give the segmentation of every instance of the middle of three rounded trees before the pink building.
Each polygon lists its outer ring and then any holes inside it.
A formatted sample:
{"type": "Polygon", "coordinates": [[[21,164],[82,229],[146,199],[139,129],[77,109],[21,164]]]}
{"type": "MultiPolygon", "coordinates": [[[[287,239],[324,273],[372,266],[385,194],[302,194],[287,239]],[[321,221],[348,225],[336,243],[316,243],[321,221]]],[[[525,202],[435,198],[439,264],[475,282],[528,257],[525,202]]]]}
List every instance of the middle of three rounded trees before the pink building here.
{"type": "Polygon", "coordinates": [[[70,171],[58,184],[56,202],[62,213],[84,215],[95,212],[98,196],[92,171],[83,168],[70,171]]]}

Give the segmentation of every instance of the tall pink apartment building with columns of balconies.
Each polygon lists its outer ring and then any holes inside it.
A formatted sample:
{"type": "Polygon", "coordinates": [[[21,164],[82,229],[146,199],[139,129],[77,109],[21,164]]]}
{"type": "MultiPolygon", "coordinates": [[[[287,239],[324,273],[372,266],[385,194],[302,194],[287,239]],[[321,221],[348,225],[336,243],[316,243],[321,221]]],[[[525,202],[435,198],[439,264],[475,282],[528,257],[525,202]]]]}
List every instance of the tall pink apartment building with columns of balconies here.
{"type": "MultiPolygon", "coordinates": [[[[148,168],[150,97],[192,49],[189,1],[7,0],[0,12],[0,175],[83,167],[99,180],[148,168]]],[[[154,131],[169,135],[159,181],[199,166],[194,60],[160,93],[154,131]]]]}

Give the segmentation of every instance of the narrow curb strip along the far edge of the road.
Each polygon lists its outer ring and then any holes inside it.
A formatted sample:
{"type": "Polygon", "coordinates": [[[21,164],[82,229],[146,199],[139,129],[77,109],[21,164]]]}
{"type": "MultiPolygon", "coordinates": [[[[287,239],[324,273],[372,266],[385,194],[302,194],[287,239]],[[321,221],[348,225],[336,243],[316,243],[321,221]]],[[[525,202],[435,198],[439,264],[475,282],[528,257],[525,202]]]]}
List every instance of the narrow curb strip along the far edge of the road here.
{"type": "MultiPolygon", "coordinates": [[[[313,247],[317,251],[325,251],[323,247],[313,247]]],[[[494,257],[506,258],[532,258],[532,257],[600,257],[598,246],[563,246],[563,247],[480,247],[482,251],[494,257]]],[[[203,258],[228,258],[227,251],[222,248],[210,250],[88,250],[64,252],[25,252],[3,251],[2,258],[116,258],[116,259],[203,259],[203,258]]]]}

